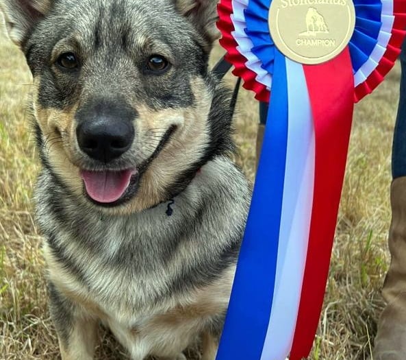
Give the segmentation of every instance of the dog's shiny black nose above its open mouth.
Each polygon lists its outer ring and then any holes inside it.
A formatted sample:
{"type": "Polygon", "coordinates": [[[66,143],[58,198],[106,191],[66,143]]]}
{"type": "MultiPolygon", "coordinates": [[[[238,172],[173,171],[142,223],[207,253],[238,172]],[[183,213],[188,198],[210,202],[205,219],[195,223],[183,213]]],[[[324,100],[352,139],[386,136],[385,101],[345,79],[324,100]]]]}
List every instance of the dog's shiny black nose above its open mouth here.
{"type": "Polygon", "coordinates": [[[103,163],[124,154],[133,143],[134,126],[129,121],[101,117],[77,126],[77,142],[83,152],[103,163]]]}

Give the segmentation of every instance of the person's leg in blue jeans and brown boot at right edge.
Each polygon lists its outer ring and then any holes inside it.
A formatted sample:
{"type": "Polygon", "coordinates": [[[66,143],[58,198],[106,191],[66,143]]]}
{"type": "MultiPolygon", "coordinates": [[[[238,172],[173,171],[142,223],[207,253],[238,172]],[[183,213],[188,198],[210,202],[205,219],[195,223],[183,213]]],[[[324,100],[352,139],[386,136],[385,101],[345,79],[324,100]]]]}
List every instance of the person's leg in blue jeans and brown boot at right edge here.
{"type": "Polygon", "coordinates": [[[401,53],[401,93],[392,149],[391,263],[383,284],[387,303],[378,324],[374,360],[406,359],[406,40],[401,53]]]}

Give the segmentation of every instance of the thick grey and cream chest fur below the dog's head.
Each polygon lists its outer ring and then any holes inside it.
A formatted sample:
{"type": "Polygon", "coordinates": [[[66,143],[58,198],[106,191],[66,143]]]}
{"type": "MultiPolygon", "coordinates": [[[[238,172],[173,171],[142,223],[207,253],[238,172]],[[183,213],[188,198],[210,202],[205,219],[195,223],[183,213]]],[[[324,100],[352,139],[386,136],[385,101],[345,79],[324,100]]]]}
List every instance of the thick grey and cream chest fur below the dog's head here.
{"type": "Polygon", "coordinates": [[[38,182],[37,218],[49,276],[65,296],[116,335],[153,334],[154,324],[167,332],[169,322],[186,336],[224,315],[249,203],[246,180],[227,158],[197,173],[170,216],[168,202],[127,216],[96,212],[49,176],[38,182]]]}

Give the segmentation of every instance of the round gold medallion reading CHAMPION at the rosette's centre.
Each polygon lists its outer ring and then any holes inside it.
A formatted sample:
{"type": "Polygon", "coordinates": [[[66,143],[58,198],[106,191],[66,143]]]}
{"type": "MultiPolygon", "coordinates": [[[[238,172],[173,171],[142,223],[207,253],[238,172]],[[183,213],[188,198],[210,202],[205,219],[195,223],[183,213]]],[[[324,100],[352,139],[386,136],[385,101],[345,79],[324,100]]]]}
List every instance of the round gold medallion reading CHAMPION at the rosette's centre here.
{"type": "Polygon", "coordinates": [[[320,64],[348,45],[355,8],[352,0],[272,0],[268,21],[283,55],[301,64],[320,64]]]}

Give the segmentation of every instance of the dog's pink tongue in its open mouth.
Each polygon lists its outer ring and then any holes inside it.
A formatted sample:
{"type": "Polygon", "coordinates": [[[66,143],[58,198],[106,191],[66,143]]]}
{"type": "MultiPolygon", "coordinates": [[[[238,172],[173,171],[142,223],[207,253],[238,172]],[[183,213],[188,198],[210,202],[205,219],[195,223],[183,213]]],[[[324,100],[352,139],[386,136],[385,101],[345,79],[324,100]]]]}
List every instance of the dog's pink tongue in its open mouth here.
{"type": "Polygon", "coordinates": [[[134,171],[86,171],[81,170],[88,195],[97,202],[115,202],[123,196],[134,171]]]}

